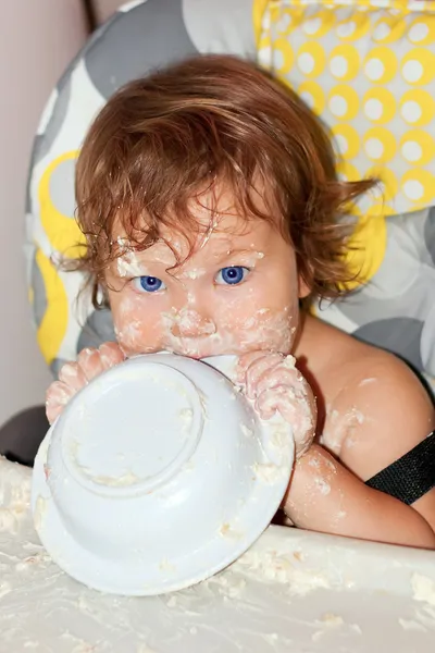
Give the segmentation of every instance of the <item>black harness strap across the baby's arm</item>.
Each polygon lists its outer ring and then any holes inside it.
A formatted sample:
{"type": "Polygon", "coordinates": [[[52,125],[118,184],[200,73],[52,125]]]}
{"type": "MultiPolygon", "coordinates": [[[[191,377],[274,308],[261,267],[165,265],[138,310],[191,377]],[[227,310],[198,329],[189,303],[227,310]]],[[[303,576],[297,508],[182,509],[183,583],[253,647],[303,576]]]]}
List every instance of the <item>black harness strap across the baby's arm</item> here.
{"type": "Polygon", "coordinates": [[[435,431],[401,458],[388,465],[365,485],[413,504],[435,488],[435,431]]]}

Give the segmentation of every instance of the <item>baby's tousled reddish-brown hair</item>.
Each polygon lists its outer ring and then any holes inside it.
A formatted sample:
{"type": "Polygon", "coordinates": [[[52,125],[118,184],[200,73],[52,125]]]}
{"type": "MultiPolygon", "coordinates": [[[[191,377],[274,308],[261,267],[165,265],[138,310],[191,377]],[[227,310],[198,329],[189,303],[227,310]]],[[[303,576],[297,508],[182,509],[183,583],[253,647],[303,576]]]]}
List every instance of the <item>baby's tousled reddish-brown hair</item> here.
{"type": "Polygon", "coordinates": [[[191,242],[191,199],[216,180],[229,184],[243,215],[276,223],[312,294],[343,292],[352,276],[344,256],[351,224],[344,218],[373,182],[339,181],[331,140],[302,100],[229,56],[197,57],[127,84],[91,125],[76,197],[87,239],[78,267],[92,275],[95,291],[120,255],[115,224],[138,248],[157,242],[163,225],[191,242]],[[258,178],[274,207],[261,214],[258,178]]]}

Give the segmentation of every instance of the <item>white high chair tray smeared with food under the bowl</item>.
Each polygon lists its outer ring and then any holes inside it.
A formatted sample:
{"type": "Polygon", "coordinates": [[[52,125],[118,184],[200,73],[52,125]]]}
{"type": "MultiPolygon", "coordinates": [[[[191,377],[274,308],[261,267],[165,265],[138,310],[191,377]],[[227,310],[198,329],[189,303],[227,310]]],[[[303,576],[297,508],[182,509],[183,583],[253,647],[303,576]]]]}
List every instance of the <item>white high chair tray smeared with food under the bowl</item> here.
{"type": "Polygon", "coordinates": [[[0,459],[0,653],[432,653],[435,553],[271,527],[226,571],[126,599],[38,542],[30,470],[0,459]]]}

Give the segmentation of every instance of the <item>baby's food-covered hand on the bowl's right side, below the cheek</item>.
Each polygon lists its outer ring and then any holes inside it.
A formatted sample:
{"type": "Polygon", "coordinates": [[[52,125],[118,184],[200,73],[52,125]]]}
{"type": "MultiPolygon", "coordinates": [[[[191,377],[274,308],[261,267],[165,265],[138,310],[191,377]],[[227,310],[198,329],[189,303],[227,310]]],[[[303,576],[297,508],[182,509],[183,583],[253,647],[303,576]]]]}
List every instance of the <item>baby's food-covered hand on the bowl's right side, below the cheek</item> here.
{"type": "Polygon", "coordinates": [[[316,407],[311,387],[293,356],[253,352],[240,356],[237,381],[262,419],[276,411],[293,427],[296,457],[308,452],[315,433],[316,407]]]}

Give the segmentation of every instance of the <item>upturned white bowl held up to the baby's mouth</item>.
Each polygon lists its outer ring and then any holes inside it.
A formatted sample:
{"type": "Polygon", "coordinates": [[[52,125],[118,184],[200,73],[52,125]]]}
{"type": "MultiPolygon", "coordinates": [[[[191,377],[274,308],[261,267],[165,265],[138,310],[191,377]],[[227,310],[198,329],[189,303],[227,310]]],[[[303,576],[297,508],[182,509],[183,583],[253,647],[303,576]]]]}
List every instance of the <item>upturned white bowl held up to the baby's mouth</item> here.
{"type": "Polygon", "coordinates": [[[70,402],[40,446],[32,495],[40,540],[70,576],[127,595],[182,589],[269,526],[294,443],[214,369],[234,361],[139,356],[70,402]]]}

